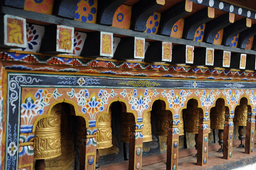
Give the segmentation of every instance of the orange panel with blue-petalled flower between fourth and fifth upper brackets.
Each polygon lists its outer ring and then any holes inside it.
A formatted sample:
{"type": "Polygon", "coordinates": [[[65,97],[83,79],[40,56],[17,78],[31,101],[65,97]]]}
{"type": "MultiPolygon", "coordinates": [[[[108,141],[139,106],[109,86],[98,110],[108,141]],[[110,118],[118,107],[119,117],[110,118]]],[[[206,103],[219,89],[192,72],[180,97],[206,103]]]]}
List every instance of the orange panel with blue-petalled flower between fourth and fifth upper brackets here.
{"type": "Polygon", "coordinates": [[[160,13],[154,12],[154,14],[152,14],[147,20],[144,32],[150,33],[150,34],[157,34],[158,26],[160,22],[160,16],[161,16],[160,13]]]}

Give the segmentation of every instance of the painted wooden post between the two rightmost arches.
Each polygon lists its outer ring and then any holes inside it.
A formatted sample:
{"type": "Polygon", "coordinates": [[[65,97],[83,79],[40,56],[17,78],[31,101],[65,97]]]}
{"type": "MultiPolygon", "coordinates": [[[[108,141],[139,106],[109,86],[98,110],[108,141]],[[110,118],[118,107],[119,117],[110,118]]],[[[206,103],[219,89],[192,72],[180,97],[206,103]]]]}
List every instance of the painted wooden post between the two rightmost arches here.
{"type": "Polygon", "coordinates": [[[225,113],[224,137],[223,137],[223,158],[232,159],[233,150],[233,129],[234,129],[234,111],[230,114],[225,113]]]}

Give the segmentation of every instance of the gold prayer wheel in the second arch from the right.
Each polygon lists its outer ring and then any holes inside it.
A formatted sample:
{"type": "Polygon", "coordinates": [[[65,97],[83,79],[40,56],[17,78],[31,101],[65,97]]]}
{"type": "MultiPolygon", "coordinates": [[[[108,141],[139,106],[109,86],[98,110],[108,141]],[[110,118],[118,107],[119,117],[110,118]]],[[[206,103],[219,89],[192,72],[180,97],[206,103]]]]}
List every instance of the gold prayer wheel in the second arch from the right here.
{"type": "Polygon", "coordinates": [[[212,129],[224,129],[225,106],[221,105],[220,100],[217,100],[215,107],[211,108],[210,120],[212,129]]]}

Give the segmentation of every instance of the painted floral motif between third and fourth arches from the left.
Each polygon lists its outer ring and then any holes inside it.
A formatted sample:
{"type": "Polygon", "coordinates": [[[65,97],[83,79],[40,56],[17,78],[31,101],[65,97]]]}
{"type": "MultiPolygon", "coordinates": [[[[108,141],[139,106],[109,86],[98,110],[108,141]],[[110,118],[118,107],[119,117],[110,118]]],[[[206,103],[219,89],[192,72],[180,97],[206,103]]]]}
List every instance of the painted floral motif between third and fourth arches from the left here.
{"type": "Polygon", "coordinates": [[[173,90],[166,93],[166,90],[162,92],[163,97],[167,97],[170,108],[174,109],[175,114],[179,114],[180,108],[184,106],[184,102],[186,101],[186,96],[190,96],[192,94],[190,90],[186,93],[186,91],[181,90],[179,94],[174,93],[173,90]]]}

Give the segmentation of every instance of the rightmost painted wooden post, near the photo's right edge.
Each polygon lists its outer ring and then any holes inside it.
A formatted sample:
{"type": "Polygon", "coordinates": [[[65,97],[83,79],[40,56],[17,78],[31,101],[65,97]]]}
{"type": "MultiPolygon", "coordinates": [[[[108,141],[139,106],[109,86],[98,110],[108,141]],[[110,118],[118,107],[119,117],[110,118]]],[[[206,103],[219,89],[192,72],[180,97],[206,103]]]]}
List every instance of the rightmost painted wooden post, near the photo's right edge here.
{"type": "Polygon", "coordinates": [[[247,122],[246,122],[246,137],[245,137],[245,153],[253,153],[254,145],[254,132],[255,132],[255,114],[256,113],[247,113],[247,122]]]}

